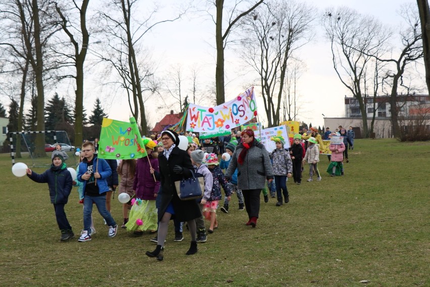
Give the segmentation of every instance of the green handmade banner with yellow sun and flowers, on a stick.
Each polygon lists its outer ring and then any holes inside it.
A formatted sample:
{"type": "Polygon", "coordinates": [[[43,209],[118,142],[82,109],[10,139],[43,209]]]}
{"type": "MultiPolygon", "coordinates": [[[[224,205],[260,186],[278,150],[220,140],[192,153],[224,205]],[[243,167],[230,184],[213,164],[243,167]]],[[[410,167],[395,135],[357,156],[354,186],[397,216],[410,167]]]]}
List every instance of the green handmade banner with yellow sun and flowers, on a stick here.
{"type": "Polygon", "coordinates": [[[130,122],[103,118],[98,144],[98,157],[101,159],[127,160],[147,156],[134,117],[130,122]]]}

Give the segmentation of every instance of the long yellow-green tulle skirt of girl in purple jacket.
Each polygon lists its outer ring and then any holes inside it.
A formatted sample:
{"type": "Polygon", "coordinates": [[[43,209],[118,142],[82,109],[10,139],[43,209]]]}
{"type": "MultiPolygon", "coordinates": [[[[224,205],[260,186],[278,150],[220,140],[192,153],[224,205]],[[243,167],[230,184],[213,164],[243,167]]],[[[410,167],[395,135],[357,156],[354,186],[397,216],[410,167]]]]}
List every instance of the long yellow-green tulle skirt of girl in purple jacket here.
{"type": "Polygon", "coordinates": [[[154,200],[136,200],[130,210],[127,231],[157,230],[157,208],[154,200]],[[142,224],[138,225],[138,220],[142,224]]]}

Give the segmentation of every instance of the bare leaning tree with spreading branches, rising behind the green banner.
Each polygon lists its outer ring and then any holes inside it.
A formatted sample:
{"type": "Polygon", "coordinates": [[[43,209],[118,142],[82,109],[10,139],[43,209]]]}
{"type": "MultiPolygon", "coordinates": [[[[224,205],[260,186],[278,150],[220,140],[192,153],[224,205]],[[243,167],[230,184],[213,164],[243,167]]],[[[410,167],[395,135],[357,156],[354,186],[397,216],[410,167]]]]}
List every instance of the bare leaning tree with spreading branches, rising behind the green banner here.
{"type": "Polygon", "coordinates": [[[181,18],[184,12],[179,12],[172,19],[154,21],[157,8],[150,11],[149,16],[145,18],[137,11],[137,4],[137,0],[110,0],[106,2],[106,12],[99,12],[99,24],[102,25],[100,29],[108,37],[110,52],[108,55],[99,53],[98,56],[109,63],[120,75],[120,84],[126,88],[128,93],[131,113],[136,119],[140,116],[142,133],[147,134],[143,93],[145,91],[153,93],[157,87],[153,85],[155,81],[150,67],[144,65],[142,67],[142,62],[137,57],[141,47],[140,42],[144,35],[156,25],[176,21],[181,18]],[[142,84],[145,81],[146,85],[142,84]]]}

